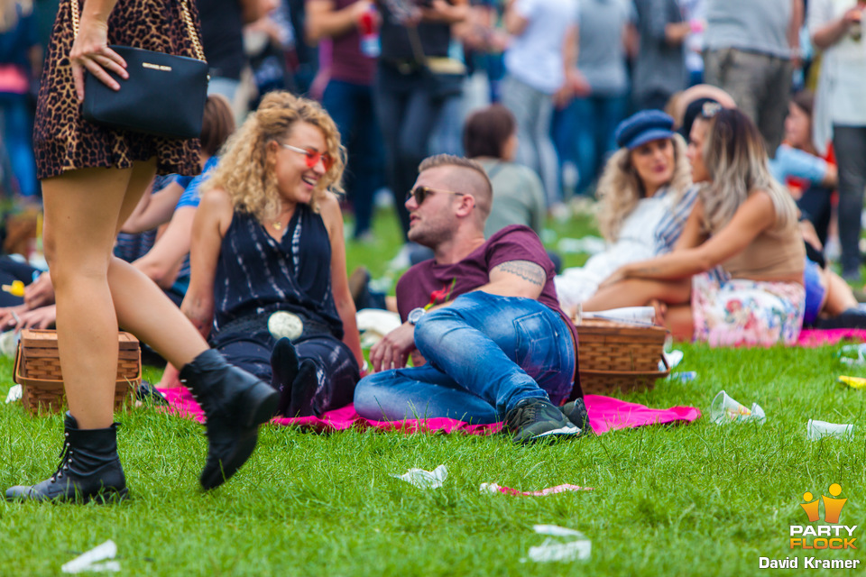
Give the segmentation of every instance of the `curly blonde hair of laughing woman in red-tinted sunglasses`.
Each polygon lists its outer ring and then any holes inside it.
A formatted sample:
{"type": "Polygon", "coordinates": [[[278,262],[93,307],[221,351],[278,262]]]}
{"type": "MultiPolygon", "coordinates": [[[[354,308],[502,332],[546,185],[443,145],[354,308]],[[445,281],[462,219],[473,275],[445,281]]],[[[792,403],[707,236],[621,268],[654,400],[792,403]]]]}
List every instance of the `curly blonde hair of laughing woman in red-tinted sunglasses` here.
{"type": "Polygon", "coordinates": [[[228,193],[236,211],[254,215],[259,222],[279,214],[280,193],[272,160],[268,160],[269,142],[281,142],[297,123],[317,126],[325,136],[327,153],[334,166],[318,180],[309,202],[318,212],[318,203],[327,194],[343,192],[345,147],[340,144],[336,124],[318,102],[294,96],[290,92],[270,92],[258,109],[250,114],[241,128],[225,145],[225,153],[202,191],[222,188],[228,193]]]}

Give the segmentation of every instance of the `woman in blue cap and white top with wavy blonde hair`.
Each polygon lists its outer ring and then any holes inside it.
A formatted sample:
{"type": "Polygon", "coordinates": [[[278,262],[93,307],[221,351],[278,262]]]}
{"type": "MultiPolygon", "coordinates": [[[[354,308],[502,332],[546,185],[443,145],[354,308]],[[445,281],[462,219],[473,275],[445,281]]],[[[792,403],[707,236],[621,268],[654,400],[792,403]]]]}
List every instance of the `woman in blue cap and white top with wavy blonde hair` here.
{"type": "Polygon", "coordinates": [[[623,264],[673,250],[697,196],[686,142],[673,125],[668,114],[647,110],[617,126],[620,149],[607,161],[597,190],[598,226],[607,247],[556,277],[564,309],[592,297],[623,264]]]}

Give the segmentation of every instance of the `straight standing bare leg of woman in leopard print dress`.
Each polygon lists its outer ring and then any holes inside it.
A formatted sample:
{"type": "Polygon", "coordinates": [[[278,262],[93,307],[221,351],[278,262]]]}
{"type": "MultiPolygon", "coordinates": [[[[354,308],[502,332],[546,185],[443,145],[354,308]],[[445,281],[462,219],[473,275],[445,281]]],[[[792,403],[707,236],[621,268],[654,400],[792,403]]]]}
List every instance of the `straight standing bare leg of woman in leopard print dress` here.
{"type": "Polygon", "coordinates": [[[117,317],[107,271],[132,169],[79,169],[42,181],[45,256],[69,412],[82,429],[114,421],[117,317]]]}

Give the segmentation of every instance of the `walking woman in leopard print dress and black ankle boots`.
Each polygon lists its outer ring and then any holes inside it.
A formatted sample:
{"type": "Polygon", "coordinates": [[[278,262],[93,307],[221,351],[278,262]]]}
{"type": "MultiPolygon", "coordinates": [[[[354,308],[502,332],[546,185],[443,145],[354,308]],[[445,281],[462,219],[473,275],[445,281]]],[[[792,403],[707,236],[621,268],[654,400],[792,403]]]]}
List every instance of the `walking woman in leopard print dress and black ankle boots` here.
{"type": "Polygon", "coordinates": [[[195,7],[190,0],[84,0],[76,36],[69,2],[61,0],[54,23],[34,139],[69,401],[66,444],[51,478],[13,487],[6,499],[126,496],[113,414],[118,324],[182,367],[180,379],[207,415],[209,449],[200,481],[205,489],[216,487],[253,453],[258,426],[271,417],[279,395],[228,366],[150,279],[111,255],[117,231],[154,174],[198,173],[198,140],[112,130],[80,114],[85,70],[124,89],[126,64],[109,41],[193,56],[180,2],[197,19],[195,7]]]}

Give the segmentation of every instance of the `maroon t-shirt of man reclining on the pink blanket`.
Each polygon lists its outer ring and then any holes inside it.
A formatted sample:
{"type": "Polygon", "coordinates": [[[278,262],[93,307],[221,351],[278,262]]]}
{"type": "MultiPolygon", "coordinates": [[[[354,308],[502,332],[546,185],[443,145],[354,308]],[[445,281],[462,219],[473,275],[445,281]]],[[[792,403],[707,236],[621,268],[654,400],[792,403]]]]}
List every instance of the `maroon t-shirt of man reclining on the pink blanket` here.
{"type": "Polygon", "coordinates": [[[463,261],[437,264],[433,259],[419,262],[397,282],[397,309],[406,322],[410,310],[428,305],[440,305],[490,282],[490,271],[502,262],[530,261],[548,275],[539,303],[562,316],[577,342],[577,331],[571,319],[559,308],[557,289],[553,283],[556,270],[539,237],[528,226],[511,224],[493,234],[470,252],[463,261]]]}

